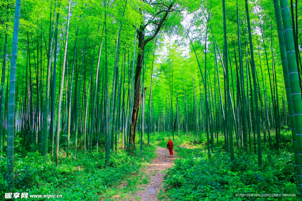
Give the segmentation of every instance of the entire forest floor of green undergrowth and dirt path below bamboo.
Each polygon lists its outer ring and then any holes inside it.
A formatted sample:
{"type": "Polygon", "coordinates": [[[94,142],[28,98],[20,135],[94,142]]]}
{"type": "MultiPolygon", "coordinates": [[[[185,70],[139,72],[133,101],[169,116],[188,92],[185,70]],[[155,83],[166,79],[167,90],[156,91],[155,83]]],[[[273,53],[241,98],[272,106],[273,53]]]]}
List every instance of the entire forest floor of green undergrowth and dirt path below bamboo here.
{"type": "MultiPolygon", "coordinates": [[[[207,150],[207,138],[203,134],[196,137],[195,133],[189,136],[175,133],[177,155],[171,160],[168,150],[165,158],[165,147],[172,133],[151,133],[149,147],[145,137],[143,155],[140,155],[139,146],[127,154],[124,146],[118,143],[108,168],[104,168],[104,139],[98,150],[91,153],[79,150],[76,161],[66,157],[64,147],[60,147],[59,168],[56,168],[55,156],[44,159],[39,152],[29,152],[21,146],[22,138],[17,136],[14,192],[63,194],[64,201],[297,200],[297,197],[242,199],[234,196],[235,193],[295,193],[299,196],[291,133],[281,132],[279,151],[275,149],[274,134],[272,131],[271,149],[263,142],[262,135],[261,167],[257,154],[237,147],[234,147],[235,160],[231,162],[230,155],[225,153],[221,133],[218,143],[214,139],[210,157],[207,152],[199,152],[207,150]]],[[[139,136],[136,142],[140,141],[139,136]]],[[[252,150],[253,142],[252,138],[252,150]]],[[[3,158],[0,162],[1,171],[7,171],[8,160],[3,158]]],[[[0,175],[0,185],[4,186],[2,194],[8,191],[7,183],[1,182],[6,181],[3,175],[0,175]]],[[[0,193],[0,200],[2,198],[0,193]]]]}

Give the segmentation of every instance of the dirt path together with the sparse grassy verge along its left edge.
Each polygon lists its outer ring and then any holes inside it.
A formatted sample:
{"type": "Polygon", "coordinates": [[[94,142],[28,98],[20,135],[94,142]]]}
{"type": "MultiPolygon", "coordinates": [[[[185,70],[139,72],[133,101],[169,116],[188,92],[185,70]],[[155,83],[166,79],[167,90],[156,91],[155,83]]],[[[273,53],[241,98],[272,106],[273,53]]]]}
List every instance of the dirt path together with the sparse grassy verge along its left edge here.
{"type": "Polygon", "coordinates": [[[156,141],[156,157],[142,164],[139,173],[129,175],[114,190],[108,190],[105,193],[107,196],[100,200],[158,201],[163,198],[168,199],[163,193],[163,177],[167,169],[174,165],[178,155],[174,151],[170,159],[169,150],[165,148],[165,145],[166,141],[156,141]],[[115,195],[110,196],[110,192],[115,195]]]}

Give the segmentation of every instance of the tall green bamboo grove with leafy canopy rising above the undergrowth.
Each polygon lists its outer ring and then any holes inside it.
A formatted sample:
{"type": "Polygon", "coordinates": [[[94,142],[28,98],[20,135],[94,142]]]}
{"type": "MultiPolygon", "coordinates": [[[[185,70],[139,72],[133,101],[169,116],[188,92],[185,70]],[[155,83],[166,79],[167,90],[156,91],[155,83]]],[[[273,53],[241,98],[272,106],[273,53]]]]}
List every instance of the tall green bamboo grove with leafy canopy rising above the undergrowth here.
{"type": "Polygon", "coordinates": [[[19,0],[0,4],[2,154],[12,157],[21,146],[55,155],[58,166],[64,151],[76,159],[78,150],[105,146],[107,166],[114,150],[129,151],[142,54],[139,138],[207,135],[210,153],[223,135],[231,160],[243,148],[258,153],[261,165],[261,141],[282,149],[280,132],[292,130],[302,184],[299,2],[24,0],[19,13],[19,0]],[[159,33],[140,49],[142,22],[150,23],[148,38],[169,6],[159,33]]]}

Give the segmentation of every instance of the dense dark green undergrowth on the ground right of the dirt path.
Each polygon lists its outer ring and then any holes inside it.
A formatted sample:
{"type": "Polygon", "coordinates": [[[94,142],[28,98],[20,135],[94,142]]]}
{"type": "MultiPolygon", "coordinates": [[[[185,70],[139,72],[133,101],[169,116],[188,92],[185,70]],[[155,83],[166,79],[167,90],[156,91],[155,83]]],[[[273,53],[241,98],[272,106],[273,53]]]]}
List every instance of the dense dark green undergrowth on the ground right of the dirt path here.
{"type": "MultiPolygon", "coordinates": [[[[170,135],[165,133],[157,137],[162,140],[159,145],[165,146],[170,135]]],[[[197,139],[195,136],[174,136],[174,149],[180,158],[175,159],[175,165],[164,176],[165,194],[174,200],[299,200],[294,154],[287,141],[290,138],[290,132],[281,132],[284,140],[278,152],[262,143],[262,166],[259,167],[254,146],[250,154],[235,148],[235,160],[231,162],[222,146],[214,147],[208,157],[203,136],[197,139]],[[240,193],[290,193],[296,196],[236,196],[240,193]]],[[[219,140],[224,143],[223,136],[219,140]]]]}

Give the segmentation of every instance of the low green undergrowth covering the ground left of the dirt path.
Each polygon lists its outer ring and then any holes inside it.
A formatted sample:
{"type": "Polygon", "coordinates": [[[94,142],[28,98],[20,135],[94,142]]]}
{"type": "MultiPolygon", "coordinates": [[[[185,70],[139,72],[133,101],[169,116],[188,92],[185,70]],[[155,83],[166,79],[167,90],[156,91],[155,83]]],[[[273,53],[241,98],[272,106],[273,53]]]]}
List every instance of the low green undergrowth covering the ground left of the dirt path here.
{"type": "MultiPolygon", "coordinates": [[[[136,142],[139,142],[137,135],[136,142]]],[[[18,139],[18,138],[17,138],[18,139]]],[[[140,175],[141,166],[149,162],[156,155],[155,137],[150,136],[150,146],[146,146],[144,140],[143,155],[140,155],[139,146],[131,154],[127,154],[121,143],[118,144],[117,153],[111,152],[108,168],[104,168],[104,145],[99,145],[99,150],[91,153],[78,151],[77,159],[73,156],[66,157],[66,152],[60,149],[59,168],[56,168],[55,157],[44,159],[39,152],[15,152],[14,154],[14,181],[15,189],[10,190],[6,181],[8,160],[0,160],[2,174],[0,175],[1,194],[4,199],[5,192],[28,193],[27,199],[20,200],[99,200],[103,197],[109,199],[114,193],[115,187],[126,181],[124,193],[133,191],[138,183],[147,183],[148,177],[140,175]],[[131,178],[131,179],[130,179],[131,178]],[[136,178],[136,179],[135,179],[136,178]],[[34,194],[56,194],[63,198],[30,198],[34,194]]],[[[55,155],[55,154],[54,154],[55,155]]],[[[19,200],[18,199],[18,200],[19,200]]]]}

